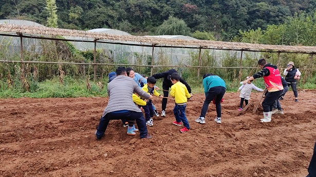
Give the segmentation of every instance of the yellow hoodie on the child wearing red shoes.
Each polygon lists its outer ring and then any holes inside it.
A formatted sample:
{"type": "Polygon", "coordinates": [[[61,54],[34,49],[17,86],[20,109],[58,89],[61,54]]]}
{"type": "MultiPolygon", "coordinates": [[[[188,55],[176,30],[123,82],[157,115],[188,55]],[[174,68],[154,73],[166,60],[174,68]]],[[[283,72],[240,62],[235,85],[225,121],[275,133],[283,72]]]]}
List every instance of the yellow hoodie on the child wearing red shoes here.
{"type": "Polygon", "coordinates": [[[179,81],[171,86],[170,95],[175,98],[177,104],[187,103],[187,98],[191,98],[187,87],[179,81]]]}

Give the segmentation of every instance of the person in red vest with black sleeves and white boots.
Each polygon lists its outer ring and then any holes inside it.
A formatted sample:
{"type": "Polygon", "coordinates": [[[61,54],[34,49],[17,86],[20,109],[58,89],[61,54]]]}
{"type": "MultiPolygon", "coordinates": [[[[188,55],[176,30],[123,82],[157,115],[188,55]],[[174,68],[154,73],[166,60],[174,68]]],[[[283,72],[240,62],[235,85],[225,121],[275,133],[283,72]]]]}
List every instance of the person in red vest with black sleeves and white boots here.
{"type": "Polygon", "coordinates": [[[268,91],[265,99],[262,102],[264,118],[261,122],[270,122],[273,103],[280,97],[283,91],[280,72],[277,67],[271,63],[267,63],[264,58],[258,60],[259,67],[262,69],[250,78],[244,80],[244,84],[256,78],[263,77],[268,91]]]}

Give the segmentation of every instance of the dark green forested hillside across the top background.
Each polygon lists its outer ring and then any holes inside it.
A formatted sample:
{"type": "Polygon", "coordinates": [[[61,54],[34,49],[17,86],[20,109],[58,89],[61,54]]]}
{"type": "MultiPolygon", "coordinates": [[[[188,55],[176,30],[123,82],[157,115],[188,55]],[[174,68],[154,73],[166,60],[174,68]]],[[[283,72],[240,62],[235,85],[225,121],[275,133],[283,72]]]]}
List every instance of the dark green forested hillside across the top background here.
{"type": "MultiPolygon", "coordinates": [[[[217,40],[231,40],[238,30],[266,30],[284,23],[295,12],[314,16],[316,0],[56,0],[58,27],[89,30],[112,28],[134,35],[162,35],[169,17],[181,19],[190,30],[210,32],[217,40]]],[[[46,25],[45,0],[2,0],[0,19],[27,19],[46,25]]],[[[187,33],[185,33],[187,34],[187,33]]]]}

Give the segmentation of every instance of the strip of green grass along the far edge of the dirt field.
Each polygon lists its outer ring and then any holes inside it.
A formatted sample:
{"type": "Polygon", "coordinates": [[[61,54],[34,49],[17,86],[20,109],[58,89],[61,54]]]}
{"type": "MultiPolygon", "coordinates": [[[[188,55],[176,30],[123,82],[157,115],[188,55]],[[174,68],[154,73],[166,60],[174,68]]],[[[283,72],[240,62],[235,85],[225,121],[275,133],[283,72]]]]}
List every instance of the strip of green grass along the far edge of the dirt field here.
{"type": "MultiPolygon", "coordinates": [[[[204,93],[201,77],[187,77],[186,81],[191,86],[192,94],[204,93]]],[[[304,84],[298,82],[298,89],[316,89],[316,84],[312,81],[315,78],[310,78],[310,81],[304,84]]],[[[157,79],[156,85],[160,87],[162,92],[163,79],[157,79]]],[[[11,89],[7,89],[6,80],[1,80],[0,84],[0,98],[76,98],[76,97],[107,97],[107,79],[102,80],[104,87],[99,89],[94,81],[90,81],[90,90],[86,87],[85,79],[78,79],[66,76],[64,77],[64,84],[59,82],[59,78],[45,80],[43,82],[30,81],[30,92],[25,92],[21,89],[21,85],[17,84],[11,89]]],[[[252,82],[254,85],[261,89],[265,89],[263,78],[255,79],[252,82]]],[[[241,86],[239,81],[226,81],[226,92],[236,92],[241,86]]]]}

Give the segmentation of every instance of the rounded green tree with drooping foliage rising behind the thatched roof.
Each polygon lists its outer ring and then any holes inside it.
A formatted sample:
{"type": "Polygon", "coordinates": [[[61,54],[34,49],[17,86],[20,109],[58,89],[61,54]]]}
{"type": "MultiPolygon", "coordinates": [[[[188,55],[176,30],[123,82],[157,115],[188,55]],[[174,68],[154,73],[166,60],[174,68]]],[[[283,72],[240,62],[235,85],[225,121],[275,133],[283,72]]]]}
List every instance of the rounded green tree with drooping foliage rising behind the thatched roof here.
{"type": "Polygon", "coordinates": [[[190,35],[190,28],[179,18],[170,16],[156,30],[157,35],[190,35]]]}

